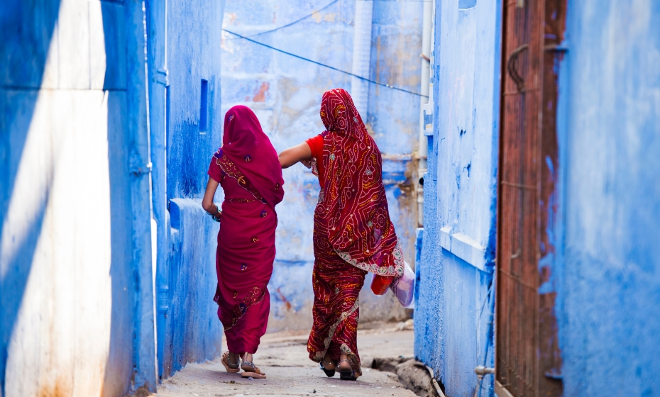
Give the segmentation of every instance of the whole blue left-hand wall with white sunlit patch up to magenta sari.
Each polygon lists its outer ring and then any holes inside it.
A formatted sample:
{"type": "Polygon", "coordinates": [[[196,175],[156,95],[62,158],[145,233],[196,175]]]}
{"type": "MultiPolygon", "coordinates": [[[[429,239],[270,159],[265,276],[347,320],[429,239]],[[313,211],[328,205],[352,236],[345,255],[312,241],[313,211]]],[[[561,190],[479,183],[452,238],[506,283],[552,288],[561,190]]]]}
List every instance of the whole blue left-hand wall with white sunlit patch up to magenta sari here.
{"type": "Polygon", "coordinates": [[[221,138],[223,6],[0,9],[0,396],[155,391],[155,303],[166,375],[219,354],[217,225],[199,198],[221,138]]]}

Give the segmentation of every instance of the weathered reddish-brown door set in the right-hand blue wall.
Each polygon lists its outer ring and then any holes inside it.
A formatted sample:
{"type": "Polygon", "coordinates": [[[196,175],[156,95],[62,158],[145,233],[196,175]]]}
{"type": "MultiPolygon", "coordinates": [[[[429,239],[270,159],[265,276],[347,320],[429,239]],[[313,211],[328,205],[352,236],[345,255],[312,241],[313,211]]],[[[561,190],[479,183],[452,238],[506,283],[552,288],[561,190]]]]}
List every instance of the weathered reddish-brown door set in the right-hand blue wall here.
{"type": "Polygon", "coordinates": [[[507,0],[497,237],[496,391],[560,396],[554,310],[557,70],[566,0],[507,0]]]}

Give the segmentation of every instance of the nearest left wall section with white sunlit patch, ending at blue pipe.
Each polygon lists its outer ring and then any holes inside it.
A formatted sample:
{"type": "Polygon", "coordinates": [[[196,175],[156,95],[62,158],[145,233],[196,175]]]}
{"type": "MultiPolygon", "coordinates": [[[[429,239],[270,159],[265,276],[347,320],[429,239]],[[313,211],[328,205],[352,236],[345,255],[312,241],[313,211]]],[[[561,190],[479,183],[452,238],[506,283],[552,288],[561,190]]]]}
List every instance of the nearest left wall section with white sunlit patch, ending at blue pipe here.
{"type": "Polygon", "coordinates": [[[142,18],[0,9],[0,395],[155,388],[142,18]]]}

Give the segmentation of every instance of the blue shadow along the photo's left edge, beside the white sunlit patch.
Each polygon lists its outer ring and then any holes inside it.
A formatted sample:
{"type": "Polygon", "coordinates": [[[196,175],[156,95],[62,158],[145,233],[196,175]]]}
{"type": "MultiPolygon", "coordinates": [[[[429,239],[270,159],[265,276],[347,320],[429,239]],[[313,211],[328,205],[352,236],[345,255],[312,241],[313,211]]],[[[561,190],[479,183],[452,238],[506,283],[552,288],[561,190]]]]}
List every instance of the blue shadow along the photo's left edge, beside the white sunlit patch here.
{"type": "MultiPolygon", "coordinates": [[[[23,159],[23,148],[60,10],[60,0],[40,1],[38,7],[33,3],[36,1],[14,0],[0,9],[0,59],[6,62],[0,91],[0,394],[4,394],[7,347],[23,301],[53,181],[52,177],[45,178],[39,197],[18,197],[23,191],[34,190],[24,185],[29,178],[21,179],[18,186],[16,182],[21,162],[28,160],[23,159]],[[26,217],[28,222],[21,225],[21,230],[9,230],[11,218],[23,216],[10,212],[12,204],[23,199],[31,201],[35,211],[26,217]]],[[[51,171],[43,170],[43,174],[51,171]]]]}

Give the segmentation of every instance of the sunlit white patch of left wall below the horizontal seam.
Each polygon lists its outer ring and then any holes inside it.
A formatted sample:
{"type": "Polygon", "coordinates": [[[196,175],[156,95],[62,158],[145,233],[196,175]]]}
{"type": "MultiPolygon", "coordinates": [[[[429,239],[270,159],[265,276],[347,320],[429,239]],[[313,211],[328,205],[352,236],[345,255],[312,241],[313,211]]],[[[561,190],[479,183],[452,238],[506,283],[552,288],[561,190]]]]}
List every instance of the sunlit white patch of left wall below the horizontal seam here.
{"type": "Polygon", "coordinates": [[[2,225],[3,276],[42,213],[43,223],[7,348],[6,396],[101,395],[111,319],[106,119],[100,90],[42,89],[26,121],[2,225]]]}

